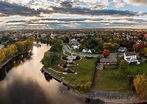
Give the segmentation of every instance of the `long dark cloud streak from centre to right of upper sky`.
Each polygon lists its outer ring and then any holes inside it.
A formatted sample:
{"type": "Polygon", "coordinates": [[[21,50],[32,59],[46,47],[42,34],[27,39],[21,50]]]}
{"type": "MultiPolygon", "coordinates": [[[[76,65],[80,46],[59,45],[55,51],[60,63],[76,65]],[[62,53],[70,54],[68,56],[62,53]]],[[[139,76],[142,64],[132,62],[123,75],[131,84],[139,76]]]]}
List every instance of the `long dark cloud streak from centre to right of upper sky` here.
{"type": "Polygon", "coordinates": [[[92,10],[89,8],[81,7],[51,7],[53,13],[65,13],[65,14],[79,14],[79,15],[109,15],[109,16],[138,16],[138,12],[129,11],[129,10],[92,10]]]}

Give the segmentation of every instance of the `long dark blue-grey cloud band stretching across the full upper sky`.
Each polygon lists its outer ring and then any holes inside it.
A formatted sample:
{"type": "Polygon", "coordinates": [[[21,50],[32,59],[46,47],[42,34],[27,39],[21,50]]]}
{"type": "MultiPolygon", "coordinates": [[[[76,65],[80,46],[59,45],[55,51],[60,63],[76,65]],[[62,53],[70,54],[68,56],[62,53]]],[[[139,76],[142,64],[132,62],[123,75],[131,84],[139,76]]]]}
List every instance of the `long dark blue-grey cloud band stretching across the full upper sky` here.
{"type": "MultiPolygon", "coordinates": [[[[114,0],[116,1],[116,0],[114,0]]],[[[106,3],[108,0],[101,1],[106,3]]],[[[20,6],[17,4],[10,4],[0,1],[0,13],[3,15],[22,15],[22,16],[40,16],[42,13],[52,14],[52,13],[61,13],[61,14],[77,14],[77,15],[87,15],[87,16],[139,16],[139,12],[129,11],[129,10],[113,10],[113,9],[104,9],[105,5],[96,5],[92,7],[81,7],[73,6],[74,3],[71,1],[61,1],[59,6],[49,6],[49,10],[45,9],[31,9],[25,6],[20,6]]],[[[143,14],[143,13],[142,13],[143,14]]]]}

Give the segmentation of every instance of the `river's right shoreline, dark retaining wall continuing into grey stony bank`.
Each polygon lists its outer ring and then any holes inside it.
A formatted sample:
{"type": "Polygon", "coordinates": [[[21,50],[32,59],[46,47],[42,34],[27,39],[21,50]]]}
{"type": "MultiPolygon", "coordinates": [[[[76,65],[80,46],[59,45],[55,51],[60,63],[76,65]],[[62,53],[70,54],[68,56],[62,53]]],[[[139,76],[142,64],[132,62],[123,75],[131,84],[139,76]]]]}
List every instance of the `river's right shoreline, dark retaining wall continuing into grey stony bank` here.
{"type": "MultiPolygon", "coordinates": [[[[62,80],[61,78],[56,77],[55,75],[51,74],[50,72],[46,71],[45,68],[41,68],[42,73],[48,74],[53,78],[54,80],[58,81],[59,83],[62,83],[66,87],[71,87],[67,84],[65,80],[62,80]]],[[[78,96],[82,96],[85,98],[90,98],[92,100],[101,100],[104,103],[110,103],[110,104],[137,104],[137,103],[144,103],[147,102],[147,100],[139,100],[135,93],[133,92],[117,92],[117,91],[103,91],[103,90],[91,90],[90,92],[86,94],[79,93],[76,90],[72,90],[75,94],[78,96]]]]}

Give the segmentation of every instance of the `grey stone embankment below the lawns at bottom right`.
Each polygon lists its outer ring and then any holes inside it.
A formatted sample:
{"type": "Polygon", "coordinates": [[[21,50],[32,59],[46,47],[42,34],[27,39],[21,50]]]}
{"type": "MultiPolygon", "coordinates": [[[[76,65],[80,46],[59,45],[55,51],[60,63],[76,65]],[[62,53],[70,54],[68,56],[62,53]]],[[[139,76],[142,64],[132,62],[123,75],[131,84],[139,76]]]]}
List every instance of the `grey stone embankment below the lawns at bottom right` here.
{"type": "Polygon", "coordinates": [[[147,102],[147,100],[139,100],[133,92],[92,90],[88,96],[89,98],[100,99],[104,102],[112,104],[137,104],[141,102],[147,102]]]}

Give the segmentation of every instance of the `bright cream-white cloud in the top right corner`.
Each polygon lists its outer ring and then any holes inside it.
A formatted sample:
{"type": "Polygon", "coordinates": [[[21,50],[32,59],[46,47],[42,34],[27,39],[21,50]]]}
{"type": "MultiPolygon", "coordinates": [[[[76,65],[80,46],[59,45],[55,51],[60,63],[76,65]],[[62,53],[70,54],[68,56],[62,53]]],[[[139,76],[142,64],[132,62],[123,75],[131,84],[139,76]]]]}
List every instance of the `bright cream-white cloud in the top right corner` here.
{"type": "Polygon", "coordinates": [[[147,0],[124,0],[124,2],[135,6],[147,5],[147,0]]]}

